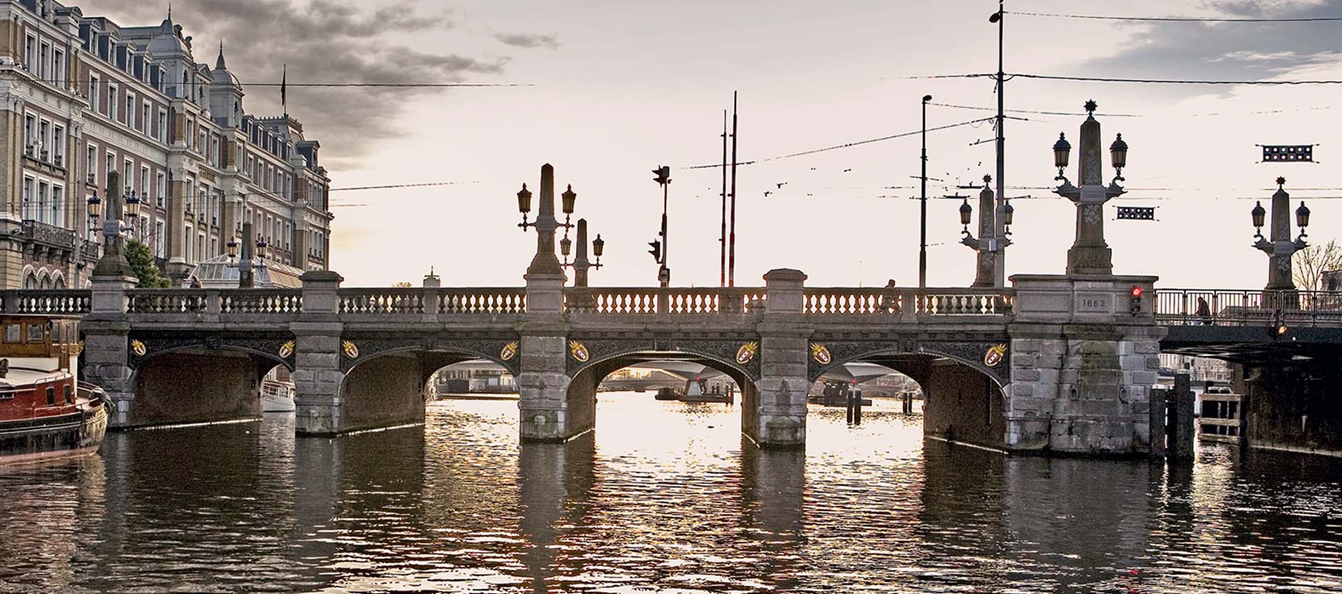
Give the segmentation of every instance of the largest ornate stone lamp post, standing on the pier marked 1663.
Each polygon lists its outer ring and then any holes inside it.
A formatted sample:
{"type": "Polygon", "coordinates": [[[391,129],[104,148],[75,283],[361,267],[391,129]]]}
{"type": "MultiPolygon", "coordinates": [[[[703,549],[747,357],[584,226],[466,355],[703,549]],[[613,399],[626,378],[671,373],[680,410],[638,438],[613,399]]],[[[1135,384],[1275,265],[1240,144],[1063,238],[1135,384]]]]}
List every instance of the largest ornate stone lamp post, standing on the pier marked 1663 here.
{"type": "Polygon", "coordinates": [[[1059,134],[1053,143],[1053,165],[1062,185],[1053,192],[1076,204],[1076,241],[1067,251],[1068,275],[1113,275],[1114,255],[1104,243],[1104,202],[1123,194],[1118,185],[1123,181],[1123,166],[1127,165],[1127,142],[1122,134],[1110,145],[1110,160],[1114,165],[1114,180],[1108,186],[1103,182],[1100,166],[1100,129],[1095,121],[1094,101],[1086,102],[1086,121],[1082,122],[1082,157],[1078,166],[1080,188],[1072,185],[1064,176],[1071,145],[1059,134]]]}

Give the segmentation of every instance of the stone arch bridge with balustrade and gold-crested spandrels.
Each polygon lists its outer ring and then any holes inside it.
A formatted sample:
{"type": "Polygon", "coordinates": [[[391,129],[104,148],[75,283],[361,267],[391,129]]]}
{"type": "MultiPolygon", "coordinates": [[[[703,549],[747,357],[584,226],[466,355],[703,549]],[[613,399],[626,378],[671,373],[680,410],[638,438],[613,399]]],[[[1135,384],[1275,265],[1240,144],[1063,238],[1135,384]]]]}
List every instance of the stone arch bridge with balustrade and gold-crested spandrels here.
{"type": "MultiPolygon", "coordinates": [[[[562,276],[561,276],[562,279],[562,276]]],[[[483,358],[521,392],[521,438],[596,426],[596,388],[652,359],[739,385],[742,432],[805,441],[807,393],[829,367],[874,362],[918,381],[926,430],[1007,451],[1146,455],[1159,341],[1154,278],[1019,275],[1011,288],[816,288],[774,270],[758,288],[346,288],[11,291],[5,311],[85,314],[83,375],[115,426],[256,416],[259,378],[293,371],[297,430],[338,434],[424,418],[436,369],[483,358]],[[1138,308],[1131,291],[1138,287],[1138,308]]],[[[652,428],[655,430],[655,428],[652,428]]]]}

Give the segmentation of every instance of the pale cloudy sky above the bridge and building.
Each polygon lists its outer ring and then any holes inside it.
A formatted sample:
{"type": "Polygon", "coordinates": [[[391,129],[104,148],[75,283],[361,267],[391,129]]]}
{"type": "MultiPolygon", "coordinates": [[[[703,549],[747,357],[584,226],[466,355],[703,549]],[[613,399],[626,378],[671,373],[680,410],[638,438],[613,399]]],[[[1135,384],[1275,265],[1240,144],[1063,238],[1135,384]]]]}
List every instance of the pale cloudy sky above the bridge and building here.
{"type": "MultiPolygon", "coordinates": [[[[138,0],[81,4],[122,25],[156,24],[138,0]]],[[[556,168],[578,193],[576,217],[605,240],[592,286],[652,286],[647,241],[660,224],[651,170],[672,168],[668,264],[674,286],[719,280],[723,110],[738,93],[741,161],[918,131],[921,98],[992,107],[988,78],[911,76],[996,70],[996,1],[827,3],[177,0],[173,20],[212,63],[224,43],[244,109],[279,110],[290,83],[462,82],[472,88],[293,87],[289,111],[322,143],[333,188],[331,268],[345,286],[419,284],[429,268],[451,286],[521,286],[535,249],[517,223],[515,193],[556,168]]],[[[1029,16],[1342,16],[1342,0],[1008,1],[1005,70],[1020,74],[1172,79],[1342,79],[1335,23],[1133,23],[1029,16]]],[[[1106,233],[1117,274],[1158,275],[1164,287],[1252,288],[1267,256],[1251,247],[1253,200],[1287,178],[1292,208],[1312,211],[1308,240],[1334,239],[1342,219],[1337,86],[1194,86],[1015,78],[1007,109],[1080,113],[1099,103],[1104,145],[1129,143],[1127,196],[1157,221],[1115,221],[1106,233]],[[1261,143],[1318,143],[1318,164],[1259,164],[1261,143]],[[1312,188],[1312,189],[1311,189],[1312,188]],[[1312,197],[1312,198],[1311,198],[1312,197]]],[[[931,106],[927,126],[992,115],[931,106]]],[[[1083,115],[1012,113],[1008,194],[1016,200],[1007,274],[1062,274],[1075,206],[1052,194],[1051,147],[1076,145],[1083,115]]],[[[927,134],[931,200],[929,286],[973,280],[961,245],[957,184],[993,173],[990,123],[927,134]]],[[[918,282],[917,134],[737,170],[738,286],[798,268],[808,286],[918,282]],[[778,184],[782,184],[781,186],[778,184]],[[765,192],[769,192],[766,196],[765,192]]],[[[1074,158],[1075,164],[1075,158],[1074,158]]],[[[1106,165],[1106,178],[1113,176],[1106,165]]],[[[1076,178],[1075,165],[1068,170],[1076,178]]],[[[534,212],[531,215],[534,219],[534,212]]],[[[572,278],[572,274],[570,274],[572,278]]]]}

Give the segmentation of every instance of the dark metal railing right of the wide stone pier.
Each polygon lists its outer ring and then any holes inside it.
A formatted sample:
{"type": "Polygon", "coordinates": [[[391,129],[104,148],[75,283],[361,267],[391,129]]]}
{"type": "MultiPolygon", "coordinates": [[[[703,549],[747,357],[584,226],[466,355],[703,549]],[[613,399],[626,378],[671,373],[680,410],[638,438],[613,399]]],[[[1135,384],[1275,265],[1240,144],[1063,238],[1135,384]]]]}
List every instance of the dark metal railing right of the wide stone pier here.
{"type": "Polygon", "coordinates": [[[1166,326],[1342,326],[1342,291],[1157,288],[1166,326]]]}

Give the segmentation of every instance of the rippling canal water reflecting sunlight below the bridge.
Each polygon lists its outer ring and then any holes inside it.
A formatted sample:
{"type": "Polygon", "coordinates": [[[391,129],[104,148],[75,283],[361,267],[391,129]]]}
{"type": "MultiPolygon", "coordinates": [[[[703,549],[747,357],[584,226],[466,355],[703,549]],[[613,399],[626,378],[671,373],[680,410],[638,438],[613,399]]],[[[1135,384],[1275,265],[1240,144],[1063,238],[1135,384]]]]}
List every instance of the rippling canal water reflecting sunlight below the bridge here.
{"type": "Polygon", "coordinates": [[[1342,591],[1335,459],[1007,457],[898,406],[812,408],[804,452],[651,393],[601,394],[565,445],[519,447],[514,401],[110,434],[0,468],[0,593],[1342,591]]]}

